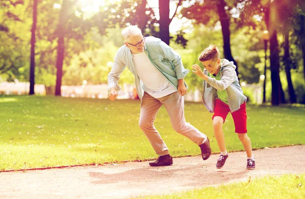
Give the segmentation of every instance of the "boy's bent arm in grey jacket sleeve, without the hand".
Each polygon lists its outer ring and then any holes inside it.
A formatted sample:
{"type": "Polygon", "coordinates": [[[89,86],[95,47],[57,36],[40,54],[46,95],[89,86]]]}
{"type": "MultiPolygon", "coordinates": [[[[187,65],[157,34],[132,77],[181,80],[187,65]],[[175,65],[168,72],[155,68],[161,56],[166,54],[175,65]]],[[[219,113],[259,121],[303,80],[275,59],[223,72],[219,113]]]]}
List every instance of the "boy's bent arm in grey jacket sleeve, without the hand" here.
{"type": "Polygon", "coordinates": [[[214,78],[208,77],[205,75],[206,82],[210,84],[210,86],[214,87],[217,90],[225,90],[230,86],[231,83],[233,83],[236,73],[234,68],[232,67],[226,67],[223,69],[223,76],[220,80],[216,80],[214,78]]]}

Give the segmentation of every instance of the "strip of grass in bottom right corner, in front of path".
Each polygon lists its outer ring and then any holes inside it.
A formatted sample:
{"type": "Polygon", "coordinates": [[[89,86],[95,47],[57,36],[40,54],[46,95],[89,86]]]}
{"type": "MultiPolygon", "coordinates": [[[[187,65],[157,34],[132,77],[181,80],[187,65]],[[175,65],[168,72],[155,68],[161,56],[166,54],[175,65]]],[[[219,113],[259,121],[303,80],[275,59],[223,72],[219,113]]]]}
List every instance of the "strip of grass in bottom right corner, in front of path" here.
{"type": "MultiPolygon", "coordinates": [[[[156,195],[142,198],[305,198],[305,174],[266,176],[247,182],[209,186],[201,189],[173,193],[171,195],[156,195]]],[[[139,198],[139,197],[138,197],[139,198]]]]}

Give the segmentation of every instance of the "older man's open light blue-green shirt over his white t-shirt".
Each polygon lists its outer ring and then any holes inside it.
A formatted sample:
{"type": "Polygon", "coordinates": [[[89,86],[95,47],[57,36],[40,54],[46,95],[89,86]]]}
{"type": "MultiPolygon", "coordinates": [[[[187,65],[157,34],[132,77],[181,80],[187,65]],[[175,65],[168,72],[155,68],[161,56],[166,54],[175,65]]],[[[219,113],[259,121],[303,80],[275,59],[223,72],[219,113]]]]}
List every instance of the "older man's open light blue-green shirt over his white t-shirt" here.
{"type": "MultiPolygon", "coordinates": [[[[178,88],[178,79],[183,79],[190,72],[182,65],[181,56],[161,39],[155,37],[145,38],[144,49],[150,62],[162,72],[175,88],[178,88]]],[[[136,73],[132,58],[133,54],[125,45],[118,49],[111,72],[108,74],[108,91],[112,87],[115,87],[117,91],[121,90],[118,86],[119,76],[127,67],[135,76],[136,90],[139,98],[142,99],[144,94],[143,83],[136,73]]]]}

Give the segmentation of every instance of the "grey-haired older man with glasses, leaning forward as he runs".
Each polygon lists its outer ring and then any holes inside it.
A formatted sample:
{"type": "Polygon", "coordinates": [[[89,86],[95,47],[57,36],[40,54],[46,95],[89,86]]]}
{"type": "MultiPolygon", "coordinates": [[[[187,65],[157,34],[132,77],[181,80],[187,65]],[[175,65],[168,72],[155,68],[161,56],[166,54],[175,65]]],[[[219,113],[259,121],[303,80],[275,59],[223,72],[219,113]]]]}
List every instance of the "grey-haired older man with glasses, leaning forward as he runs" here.
{"type": "Polygon", "coordinates": [[[159,155],[149,165],[164,166],[173,163],[167,146],[154,126],[162,105],[169,114],[173,129],[199,145],[203,160],[209,158],[209,139],[187,123],[184,117],[183,96],[187,94],[184,77],[189,70],[182,65],[180,55],[158,38],[145,38],[134,25],[126,27],[121,36],[125,45],[118,49],[108,75],[109,99],[116,99],[120,90],[119,75],[127,67],[135,76],[137,94],[141,99],[139,126],[159,155]]]}

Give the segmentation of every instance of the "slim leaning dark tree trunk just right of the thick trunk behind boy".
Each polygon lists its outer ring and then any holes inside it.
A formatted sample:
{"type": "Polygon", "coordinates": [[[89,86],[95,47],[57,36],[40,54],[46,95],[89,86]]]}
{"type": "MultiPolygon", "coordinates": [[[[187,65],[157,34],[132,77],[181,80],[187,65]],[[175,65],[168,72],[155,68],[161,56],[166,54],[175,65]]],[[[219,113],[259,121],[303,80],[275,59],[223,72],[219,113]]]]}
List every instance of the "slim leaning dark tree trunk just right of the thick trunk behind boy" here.
{"type": "Polygon", "coordinates": [[[287,77],[287,83],[288,83],[288,93],[290,97],[290,103],[296,103],[296,96],[293,89],[293,84],[291,80],[291,73],[290,73],[290,67],[291,67],[291,58],[289,53],[289,31],[286,31],[285,33],[285,46],[284,46],[284,63],[285,63],[285,72],[287,77]]]}

